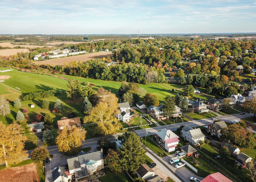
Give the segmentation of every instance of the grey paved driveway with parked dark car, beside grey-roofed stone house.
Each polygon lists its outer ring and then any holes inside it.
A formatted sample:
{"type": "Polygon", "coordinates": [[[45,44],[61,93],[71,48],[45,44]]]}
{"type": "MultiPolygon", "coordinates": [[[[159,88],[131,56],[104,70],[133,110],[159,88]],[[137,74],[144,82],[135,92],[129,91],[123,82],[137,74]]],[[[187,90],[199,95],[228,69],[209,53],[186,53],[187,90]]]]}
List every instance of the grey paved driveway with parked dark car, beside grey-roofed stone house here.
{"type": "Polygon", "coordinates": [[[72,158],[72,156],[66,156],[63,153],[53,154],[50,158],[50,164],[45,164],[45,182],[52,182],[52,172],[55,167],[64,167],[67,164],[67,159],[72,158]]]}

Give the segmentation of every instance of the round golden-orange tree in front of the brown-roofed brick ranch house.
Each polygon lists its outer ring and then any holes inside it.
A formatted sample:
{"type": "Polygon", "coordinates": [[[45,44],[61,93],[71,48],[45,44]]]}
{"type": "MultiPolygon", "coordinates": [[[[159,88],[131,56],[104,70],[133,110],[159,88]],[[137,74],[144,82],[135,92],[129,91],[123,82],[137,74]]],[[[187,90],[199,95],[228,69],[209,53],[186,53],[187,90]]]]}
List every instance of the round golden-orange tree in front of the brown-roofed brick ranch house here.
{"type": "Polygon", "coordinates": [[[59,132],[56,145],[59,152],[73,154],[78,152],[81,142],[85,140],[86,131],[82,127],[66,127],[59,132]]]}

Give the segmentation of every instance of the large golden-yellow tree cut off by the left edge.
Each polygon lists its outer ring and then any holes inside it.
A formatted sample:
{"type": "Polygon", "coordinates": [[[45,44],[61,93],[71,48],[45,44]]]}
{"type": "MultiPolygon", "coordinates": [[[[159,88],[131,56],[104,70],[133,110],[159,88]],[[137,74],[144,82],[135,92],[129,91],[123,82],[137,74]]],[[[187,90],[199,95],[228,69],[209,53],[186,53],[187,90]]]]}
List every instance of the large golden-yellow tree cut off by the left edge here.
{"type": "Polygon", "coordinates": [[[24,150],[26,137],[22,132],[23,128],[17,122],[8,126],[0,122],[0,163],[4,163],[6,167],[13,162],[17,164],[28,156],[27,150],[24,150]]]}

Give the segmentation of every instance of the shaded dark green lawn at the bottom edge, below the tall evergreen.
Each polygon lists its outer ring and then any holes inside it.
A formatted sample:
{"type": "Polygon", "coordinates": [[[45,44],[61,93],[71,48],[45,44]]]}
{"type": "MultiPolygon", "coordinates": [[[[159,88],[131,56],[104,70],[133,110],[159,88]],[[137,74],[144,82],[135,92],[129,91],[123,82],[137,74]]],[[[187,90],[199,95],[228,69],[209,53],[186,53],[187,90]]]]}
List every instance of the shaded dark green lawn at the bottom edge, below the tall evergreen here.
{"type": "Polygon", "coordinates": [[[102,182],[132,182],[131,178],[128,176],[128,174],[126,174],[126,172],[112,172],[109,169],[106,171],[106,176],[99,177],[98,179],[102,182]]]}

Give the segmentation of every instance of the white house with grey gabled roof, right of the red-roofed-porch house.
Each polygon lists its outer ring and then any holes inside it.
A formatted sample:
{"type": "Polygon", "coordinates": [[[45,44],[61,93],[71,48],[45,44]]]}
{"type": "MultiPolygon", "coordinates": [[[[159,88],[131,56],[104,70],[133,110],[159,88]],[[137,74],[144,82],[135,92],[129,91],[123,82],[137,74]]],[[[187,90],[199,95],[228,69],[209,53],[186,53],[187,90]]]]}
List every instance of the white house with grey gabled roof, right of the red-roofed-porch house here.
{"type": "Polygon", "coordinates": [[[192,145],[198,144],[200,140],[205,139],[205,135],[202,134],[200,128],[191,128],[189,125],[185,125],[181,130],[182,136],[192,145]]]}

